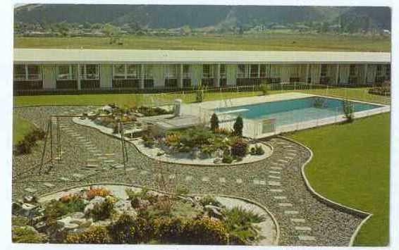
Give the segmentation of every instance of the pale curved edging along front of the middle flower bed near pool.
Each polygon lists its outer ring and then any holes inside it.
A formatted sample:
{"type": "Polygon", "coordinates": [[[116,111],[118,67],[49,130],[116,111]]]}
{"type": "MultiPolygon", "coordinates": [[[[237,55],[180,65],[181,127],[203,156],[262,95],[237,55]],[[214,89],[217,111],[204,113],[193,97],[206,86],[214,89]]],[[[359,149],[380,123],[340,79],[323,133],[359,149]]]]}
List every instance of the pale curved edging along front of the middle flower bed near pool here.
{"type": "MultiPolygon", "coordinates": [[[[108,135],[108,136],[111,136],[111,137],[115,137],[117,139],[121,139],[121,135],[120,134],[112,134],[112,133],[106,132],[106,130],[109,130],[109,128],[106,128],[106,127],[103,128],[103,127],[100,127],[100,125],[96,125],[95,127],[94,126],[90,126],[90,125],[87,125],[85,123],[81,123],[79,118],[72,118],[72,121],[75,124],[78,124],[78,125],[81,125],[81,126],[85,126],[85,127],[90,127],[92,129],[98,130],[99,132],[102,132],[104,135],[108,135]]],[[[128,142],[128,143],[132,144],[133,146],[135,146],[135,149],[137,149],[137,151],[140,152],[140,154],[142,154],[143,156],[146,156],[148,158],[151,158],[154,161],[159,161],[159,162],[163,162],[163,163],[171,163],[171,164],[179,164],[179,165],[195,165],[197,167],[218,167],[218,166],[223,166],[224,167],[224,166],[247,165],[247,164],[250,164],[250,163],[256,163],[258,161],[264,161],[267,158],[270,158],[273,155],[273,153],[274,153],[274,147],[271,146],[271,144],[268,144],[266,142],[257,142],[259,144],[263,144],[266,147],[269,147],[269,149],[271,150],[269,156],[258,158],[258,159],[254,160],[254,161],[235,162],[235,163],[230,163],[230,164],[229,163],[220,163],[220,164],[184,163],[184,162],[168,161],[168,160],[157,158],[155,156],[150,156],[148,154],[145,154],[142,151],[141,147],[137,146],[136,142],[134,142],[133,140],[131,140],[128,137],[125,137],[125,142],[128,142]]]]}

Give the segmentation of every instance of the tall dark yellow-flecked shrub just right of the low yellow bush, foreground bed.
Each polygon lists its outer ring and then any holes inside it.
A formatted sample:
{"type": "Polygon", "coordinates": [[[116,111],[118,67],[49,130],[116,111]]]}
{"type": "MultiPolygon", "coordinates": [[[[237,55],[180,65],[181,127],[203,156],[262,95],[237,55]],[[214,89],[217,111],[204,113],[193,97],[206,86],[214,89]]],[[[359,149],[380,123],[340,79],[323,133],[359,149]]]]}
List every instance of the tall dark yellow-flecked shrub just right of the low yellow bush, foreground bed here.
{"type": "Polygon", "coordinates": [[[109,236],[113,243],[133,244],[135,242],[135,219],[123,213],[115,223],[108,226],[109,236]]]}

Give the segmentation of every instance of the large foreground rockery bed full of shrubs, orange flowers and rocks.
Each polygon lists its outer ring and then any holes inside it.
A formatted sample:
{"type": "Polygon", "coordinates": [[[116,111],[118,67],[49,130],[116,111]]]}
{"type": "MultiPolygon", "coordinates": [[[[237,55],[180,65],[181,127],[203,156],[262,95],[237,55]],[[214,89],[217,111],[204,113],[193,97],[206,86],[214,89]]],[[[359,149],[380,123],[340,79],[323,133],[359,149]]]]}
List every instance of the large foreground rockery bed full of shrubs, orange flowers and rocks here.
{"type": "Polygon", "coordinates": [[[258,224],[265,220],[264,214],[227,208],[212,196],[188,196],[183,191],[166,195],[129,188],[122,196],[93,187],[47,202],[31,197],[13,204],[13,241],[256,244],[263,238],[264,227],[258,224]]]}

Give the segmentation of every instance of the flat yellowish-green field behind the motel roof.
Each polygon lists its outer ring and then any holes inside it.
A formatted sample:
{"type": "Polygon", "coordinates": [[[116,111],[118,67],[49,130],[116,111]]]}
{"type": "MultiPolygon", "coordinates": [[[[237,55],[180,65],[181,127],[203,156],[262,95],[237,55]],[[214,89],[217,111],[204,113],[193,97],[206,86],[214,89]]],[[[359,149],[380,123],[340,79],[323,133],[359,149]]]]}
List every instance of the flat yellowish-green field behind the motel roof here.
{"type": "Polygon", "coordinates": [[[153,37],[128,35],[123,45],[106,37],[15,37],[16,48],[196,49],[252,51],[391,51],[389,37],[344,35],[224,35],[221,37],[153,37]]]}

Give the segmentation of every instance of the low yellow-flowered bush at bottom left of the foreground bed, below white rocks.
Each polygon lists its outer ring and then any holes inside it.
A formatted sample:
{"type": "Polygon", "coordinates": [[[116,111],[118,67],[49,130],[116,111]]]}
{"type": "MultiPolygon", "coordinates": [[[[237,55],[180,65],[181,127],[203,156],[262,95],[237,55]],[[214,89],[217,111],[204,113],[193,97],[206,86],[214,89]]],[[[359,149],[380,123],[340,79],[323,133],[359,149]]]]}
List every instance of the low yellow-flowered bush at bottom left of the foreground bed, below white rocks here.
{"type": "Polygon", "coordinates": [[[69,244],[107,244],[111,243],[108,230],[104,226],[92,226],[84,232],[70,233],[66,236],[69,244]]]}

